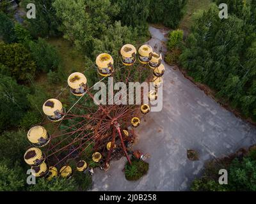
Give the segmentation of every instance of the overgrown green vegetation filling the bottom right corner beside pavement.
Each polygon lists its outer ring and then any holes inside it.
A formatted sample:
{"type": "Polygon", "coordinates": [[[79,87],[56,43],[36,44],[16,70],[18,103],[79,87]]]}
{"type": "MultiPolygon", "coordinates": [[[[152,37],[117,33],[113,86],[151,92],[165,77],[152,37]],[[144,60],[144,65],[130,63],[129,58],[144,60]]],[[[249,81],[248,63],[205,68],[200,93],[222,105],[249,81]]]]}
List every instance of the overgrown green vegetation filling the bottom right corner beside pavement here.
{"type": "Polygon", "coordinates": [[[204,175],[193,181],[192,191],[256,191],[256,148],[241,150],[235,155],[211,161],[204,175]],[[220,169],[228,171],[228,184],[220,185],[220,169]]]}

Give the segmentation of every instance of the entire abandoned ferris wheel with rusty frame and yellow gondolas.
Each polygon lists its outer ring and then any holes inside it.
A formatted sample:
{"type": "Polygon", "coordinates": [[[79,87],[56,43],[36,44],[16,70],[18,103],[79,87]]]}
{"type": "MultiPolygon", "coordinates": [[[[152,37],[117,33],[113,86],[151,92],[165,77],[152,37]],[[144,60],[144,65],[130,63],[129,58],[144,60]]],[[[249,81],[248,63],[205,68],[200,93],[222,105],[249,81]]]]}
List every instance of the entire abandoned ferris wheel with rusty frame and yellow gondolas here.
{"type": "MultiPolygon", "coordinates": [[[[142,45],[138,54],[133,45],[124,45],[116,61],[108,53],[97,56],[97,83],[108,77],[125,84],[153,82],[154,90],[147,97],[155,101],[157,89],[163,84],[161,61],[161,53],[154,52],[150,45],[142,45]]],[[[150,112],[150,104],[116,105],[111,103],[113,98],[108,99],[108,105],[95,104],[95,84],[88,85],[90,78],[84,73],[72,73],[67,82],[66,93],[45,101],[45,119],[28,131],[32,147],[25,152],[24,161],[33,175],[51,180],[59,175],[68,178],[74,170],[84,172],[92,165],[108,169],[116,154],[125,155],[131,164],[127,148],[134,142],[134,129],[140,126],[141,118],[150,112]],[[73,103],[67,101],[69,93],[73,103]]]]}

